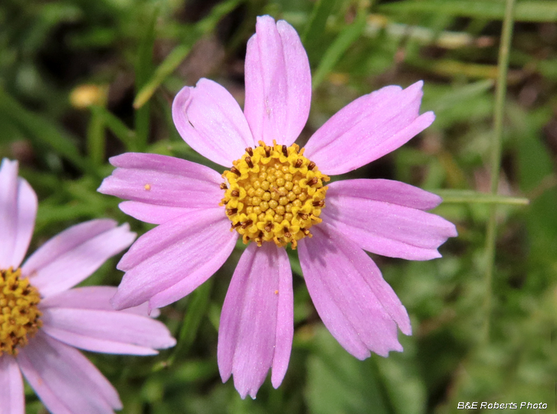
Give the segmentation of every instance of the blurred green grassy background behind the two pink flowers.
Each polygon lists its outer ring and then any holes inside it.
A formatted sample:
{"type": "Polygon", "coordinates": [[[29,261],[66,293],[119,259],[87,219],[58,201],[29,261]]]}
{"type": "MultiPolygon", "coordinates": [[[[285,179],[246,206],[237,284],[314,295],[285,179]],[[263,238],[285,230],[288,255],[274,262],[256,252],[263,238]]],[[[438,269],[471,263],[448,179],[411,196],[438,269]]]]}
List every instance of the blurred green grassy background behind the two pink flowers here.
{"type": "MultiPolygon", "coordinates": [[[[557,1],[516,3],[498,141],[504,13],[498,0],[1,2],[0,158],[18,159],[38,193],[31,249],[91,218],[127,221],[139,234],[152,227],[96,192],[111,173],[107,159],[143,151],[207,164],[175,131],[173,96],[208,77],[243,104],[257,15],[288,20],[308,51],[313,106],[300,143],[345,104],[389,84],[423,79],[422,111],[437,115],[407,145],[347,175],[437,192],[446,202],[434,212],[459,231],[439,260],[373,256],[411,317],[414,335],[400,334],[404,352],[365,361],[345,352],[322,326],[292,253],[288,373],[278,390],[267,379],[255,401],[242,401],[232,381],[221,383],[216,357],[238,246],[209,282],[162,309],[178,347],[154,358],[88,353],[118,388],[123,413],[453,413],[461,401],[542,402],[539,412],[554,412],[557,1]],[[497,142],[499,196],[489,196],[497,142]]],[[[118,258],[86,284],[118,285],[118,258]]],[[[30,388],[26,401],[28,413],[45,413],[30,388]]]]}

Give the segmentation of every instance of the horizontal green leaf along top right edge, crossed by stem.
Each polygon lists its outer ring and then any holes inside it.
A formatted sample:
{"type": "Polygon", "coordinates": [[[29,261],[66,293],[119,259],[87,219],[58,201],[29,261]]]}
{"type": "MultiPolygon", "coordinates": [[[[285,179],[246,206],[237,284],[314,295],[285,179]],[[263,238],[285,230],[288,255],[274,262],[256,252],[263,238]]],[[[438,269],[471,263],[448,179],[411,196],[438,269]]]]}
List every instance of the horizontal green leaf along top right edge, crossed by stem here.
{"type": "MultiPolygon", "coordinates": [[[[477,0],[406,0],[382,4],[381,13],[436,13],[459,17],[502,20],[505,15],[503,1],[477,0]]],[[[514,20],[518,22],[555,22],[556,1],[520,1],[515,6],[514,20]]]]}

